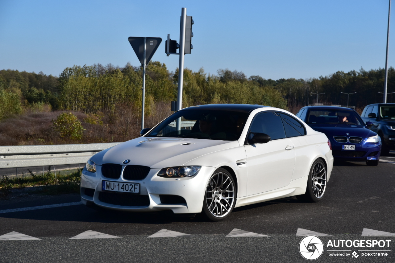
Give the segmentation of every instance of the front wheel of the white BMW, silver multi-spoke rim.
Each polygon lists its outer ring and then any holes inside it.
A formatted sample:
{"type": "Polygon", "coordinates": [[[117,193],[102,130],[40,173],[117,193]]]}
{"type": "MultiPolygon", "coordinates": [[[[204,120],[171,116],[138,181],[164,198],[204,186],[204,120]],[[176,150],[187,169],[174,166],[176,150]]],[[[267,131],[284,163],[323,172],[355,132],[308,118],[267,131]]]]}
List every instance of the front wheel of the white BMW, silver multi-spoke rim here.
{"type": "Polygon", "coordinates": [[[207,183],[202,214],[210,221],[224,220],[235,207],[236,193],[232,175],[225,169],[216,169],[207,183]]]}

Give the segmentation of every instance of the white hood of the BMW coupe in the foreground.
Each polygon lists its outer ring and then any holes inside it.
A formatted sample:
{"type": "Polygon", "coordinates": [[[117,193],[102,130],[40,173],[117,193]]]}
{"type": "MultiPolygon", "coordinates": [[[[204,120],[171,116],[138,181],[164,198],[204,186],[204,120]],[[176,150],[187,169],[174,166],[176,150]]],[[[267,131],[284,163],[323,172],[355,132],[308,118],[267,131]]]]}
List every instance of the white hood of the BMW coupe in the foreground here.
{"type": "Polygon", "coordinates": [[[162,169],[180,166],[199,156],[238,146],[237,141],[139,137],[98,152],[91,160],[97,165],[103,163],[123,165],[124,160],[130,160],[128,165],[162,169]]]}

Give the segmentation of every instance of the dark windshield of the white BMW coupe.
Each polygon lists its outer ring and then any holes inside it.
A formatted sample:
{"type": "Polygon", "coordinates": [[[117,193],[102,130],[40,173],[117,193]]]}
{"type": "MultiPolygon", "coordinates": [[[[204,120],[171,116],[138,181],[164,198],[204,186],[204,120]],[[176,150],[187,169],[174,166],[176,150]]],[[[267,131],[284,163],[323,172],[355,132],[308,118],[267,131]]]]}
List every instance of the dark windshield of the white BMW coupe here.
{"type": "Polygon", "coordinates": [[[147,137],[236,141],[243,131],[247,117],[248,113],[238,111],[183,110],[167,117],[147,137]]]}

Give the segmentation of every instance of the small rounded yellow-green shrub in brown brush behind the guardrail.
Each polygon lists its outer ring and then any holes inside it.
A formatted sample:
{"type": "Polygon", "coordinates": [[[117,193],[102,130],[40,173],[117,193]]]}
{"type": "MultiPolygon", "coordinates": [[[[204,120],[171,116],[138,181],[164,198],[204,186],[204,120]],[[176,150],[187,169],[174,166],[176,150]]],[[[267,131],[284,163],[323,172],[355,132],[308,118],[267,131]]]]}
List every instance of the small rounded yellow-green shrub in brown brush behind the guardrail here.
{"type": "Polygon", "coordinates": [[[68,137],[72,140],[82,139],[83,131],[81,121],[71,112],[61,113],[56,120],[52,120],[53,128],[60,137],[68,137]]]}

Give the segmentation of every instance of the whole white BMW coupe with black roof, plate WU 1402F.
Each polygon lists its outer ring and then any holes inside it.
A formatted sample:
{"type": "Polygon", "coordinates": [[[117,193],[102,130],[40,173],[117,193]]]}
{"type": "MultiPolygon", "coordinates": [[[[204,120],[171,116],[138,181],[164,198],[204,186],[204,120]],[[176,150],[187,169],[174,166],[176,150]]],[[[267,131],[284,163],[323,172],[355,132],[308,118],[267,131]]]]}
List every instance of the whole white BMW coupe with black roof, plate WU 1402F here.
{"type": "Polygon", "coordinates": [[[188,107],[141,134],[88,160],[82,203],[220,221],[235,207],[282,197],[318,202],[333,167],[325,134],[273,107],[188,107]]]}

